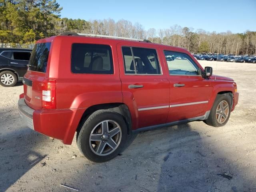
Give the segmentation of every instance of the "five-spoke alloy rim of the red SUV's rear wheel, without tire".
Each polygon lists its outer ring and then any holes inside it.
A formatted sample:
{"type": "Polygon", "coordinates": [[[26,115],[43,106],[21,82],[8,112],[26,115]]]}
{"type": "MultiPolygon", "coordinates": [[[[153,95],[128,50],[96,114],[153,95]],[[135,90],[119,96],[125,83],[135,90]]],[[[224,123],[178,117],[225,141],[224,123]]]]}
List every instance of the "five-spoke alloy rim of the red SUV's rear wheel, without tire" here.
{"type": "Polygon", "coordinates": [[[90,134],[90,148],[99,156],[106,156],[116,150],[122,138],[121,128],[113,120],[98,123],[90,134]]]}

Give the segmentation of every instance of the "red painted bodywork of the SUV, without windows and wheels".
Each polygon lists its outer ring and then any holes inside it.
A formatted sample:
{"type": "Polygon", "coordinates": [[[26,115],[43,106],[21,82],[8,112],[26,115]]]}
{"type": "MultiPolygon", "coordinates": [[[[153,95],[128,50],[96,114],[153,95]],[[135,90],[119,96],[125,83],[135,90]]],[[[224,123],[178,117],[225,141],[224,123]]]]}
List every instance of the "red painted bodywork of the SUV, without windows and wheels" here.
{"type": "MultiPolygon", "coordinates": [[[[24,98],[33,108],[34,130],[64,144],[71,144],[74,133],[87,108],[97,104],[123,103],[131,114],[132,129],[152,126],[204,115],[210,110],[216,95],[221,91],[233,93],[233,109],[238,102],[236,85],[230,78],[202,78],[202,76],[170,76],[164,50],[191,54],[182,49],[146,42],[89,38],[82,36],[53,36],[37,43],[51,42],[46,73],[28,71],[25,78],[32,80],[32,87],[24,85],[24,98]],[[112,48],[114,74],[73,74],[71,72],[71,47],[73,43],[106,44],[112,48]],[[162,69],[161,75],[125,75],[122,46],[153,48],[157,51],[162,69]],[[56,82],[56,109],[42,108],[42,83],[56,82]],[[174,87],[173,84],[186,84],[174,87]],[[130,84],[143,84],[140,89],[129,89],[130,84]],[[208,103],[142,110],[155,106],[169,106],[189,102],[208,103]]],[[[23,97],[22,95],[20,98],[23,97]]]]}

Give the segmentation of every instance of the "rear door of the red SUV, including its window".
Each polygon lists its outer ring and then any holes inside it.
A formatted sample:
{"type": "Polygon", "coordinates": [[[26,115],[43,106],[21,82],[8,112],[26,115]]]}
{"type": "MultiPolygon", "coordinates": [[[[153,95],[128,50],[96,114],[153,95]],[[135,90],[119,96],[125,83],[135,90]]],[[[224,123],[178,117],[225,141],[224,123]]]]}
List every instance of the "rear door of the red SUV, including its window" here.
{"type": "Polygon", "coordinates": [[[120,79],[124,103],[135,112],[133,128],[166,122],[170,86],[166,70],[162,70],[159,50],[142,44],[117,45],[120,79]]]}

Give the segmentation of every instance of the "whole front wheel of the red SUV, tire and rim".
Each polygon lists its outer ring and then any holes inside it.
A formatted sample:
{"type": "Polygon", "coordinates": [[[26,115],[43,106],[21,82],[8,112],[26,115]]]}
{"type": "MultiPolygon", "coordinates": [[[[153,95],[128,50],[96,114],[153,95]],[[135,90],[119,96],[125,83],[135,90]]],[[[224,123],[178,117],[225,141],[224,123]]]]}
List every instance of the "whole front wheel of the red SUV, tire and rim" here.
{"type": "Polygon", "coordinates": [[[230,112],[231,112],[230,105],[231,104],[227,96],[217,95],[216,100],[210,111],[209,117],[208,119],[204,120],[204,122],[214,127],[221,127],[226,125],[230,117],[230,112]],[[221,109],[221,103],[223,103],[224,110],[223,110],[223,107],[221,109]]]}

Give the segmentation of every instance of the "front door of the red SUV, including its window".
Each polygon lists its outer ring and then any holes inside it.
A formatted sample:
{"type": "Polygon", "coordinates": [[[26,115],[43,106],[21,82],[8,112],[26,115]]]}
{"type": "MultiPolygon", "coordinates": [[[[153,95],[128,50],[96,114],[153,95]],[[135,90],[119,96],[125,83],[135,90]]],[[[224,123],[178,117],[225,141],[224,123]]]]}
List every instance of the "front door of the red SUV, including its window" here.
{"type": "Polygon", "coordinates": [[[185,53],[164,50],[170,81],[170,110],[167,122],[204,116],[209,102],[210,81],[200,66],[185,53]]]}

